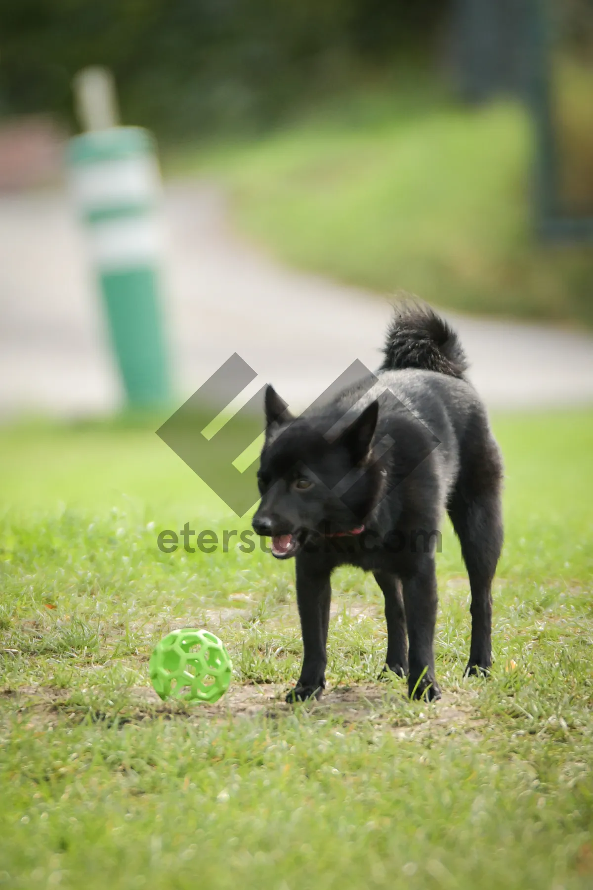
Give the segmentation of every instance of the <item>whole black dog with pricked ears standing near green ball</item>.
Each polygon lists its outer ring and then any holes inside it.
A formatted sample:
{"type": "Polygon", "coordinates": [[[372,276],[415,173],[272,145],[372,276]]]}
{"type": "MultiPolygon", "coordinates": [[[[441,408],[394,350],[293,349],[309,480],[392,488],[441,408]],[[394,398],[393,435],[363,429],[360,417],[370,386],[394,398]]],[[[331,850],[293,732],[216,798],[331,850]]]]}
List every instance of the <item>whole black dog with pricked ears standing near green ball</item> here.
{"type": "Polygon", "coordinates": [[[318,697],[325,686],[330,577],[344,562],[373,571],[385,596],[384,669],[407,676],[411,696],[440,697],[433,638],[444,508],[471,587],[466,670],[491,666],[502,465],[485,407],[464,376],[457,336],[429,307],[396,311],[384,355],[377,376],[298,418],[266,392],[253,528],[272,538],[276,558],[296,556],[304,655],[287,700],[318,697]]]}

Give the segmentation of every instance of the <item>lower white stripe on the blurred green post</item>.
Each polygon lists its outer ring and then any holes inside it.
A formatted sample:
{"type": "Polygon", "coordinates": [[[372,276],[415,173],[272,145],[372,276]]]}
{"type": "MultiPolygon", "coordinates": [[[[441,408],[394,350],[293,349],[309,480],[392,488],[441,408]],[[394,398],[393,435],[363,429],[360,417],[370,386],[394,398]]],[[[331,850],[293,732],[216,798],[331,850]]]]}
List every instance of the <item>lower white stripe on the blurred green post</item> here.
{"type": "Polygon", "coordinates": [[[131,216],[98,223],[89,231],[92,261],[100,271],[156,263],[162,230],[155,216],[131,216]]]}

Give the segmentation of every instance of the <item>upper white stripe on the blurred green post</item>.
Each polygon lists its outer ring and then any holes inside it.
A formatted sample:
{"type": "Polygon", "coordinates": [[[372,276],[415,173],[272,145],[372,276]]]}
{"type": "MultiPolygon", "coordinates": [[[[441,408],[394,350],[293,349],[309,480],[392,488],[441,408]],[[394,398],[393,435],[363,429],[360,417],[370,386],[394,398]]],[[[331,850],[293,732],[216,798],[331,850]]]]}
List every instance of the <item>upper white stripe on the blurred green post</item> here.
{"type": "Polygon", "coordinates": [[[158,166],[148,155],[76,166],[71,177],[76,204],[87,211],[152,201],[160,193],[158,166]]]}

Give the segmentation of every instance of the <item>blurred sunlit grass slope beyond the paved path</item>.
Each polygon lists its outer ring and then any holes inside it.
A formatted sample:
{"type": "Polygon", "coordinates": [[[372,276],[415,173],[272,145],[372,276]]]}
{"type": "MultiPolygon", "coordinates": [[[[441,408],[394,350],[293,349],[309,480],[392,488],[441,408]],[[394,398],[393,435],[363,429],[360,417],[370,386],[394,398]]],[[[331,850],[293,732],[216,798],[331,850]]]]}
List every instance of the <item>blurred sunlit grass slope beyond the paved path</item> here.
{"type": "Polygon", "coordinates": [[[276,134],[191,149],[250,239],[287,263],[463,312],[593,323],[590,245],[538,244],[525,111],[434,88],[351,97],[276,134]]]}

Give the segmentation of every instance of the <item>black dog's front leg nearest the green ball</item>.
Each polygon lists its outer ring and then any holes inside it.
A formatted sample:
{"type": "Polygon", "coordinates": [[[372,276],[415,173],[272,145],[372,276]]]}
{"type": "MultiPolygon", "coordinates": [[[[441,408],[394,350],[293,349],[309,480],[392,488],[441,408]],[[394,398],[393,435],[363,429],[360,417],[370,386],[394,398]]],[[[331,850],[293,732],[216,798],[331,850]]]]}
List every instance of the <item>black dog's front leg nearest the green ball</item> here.
{"type": "Polygon", "coordinates": [[[321,697],[325,687],[327,629],[330,623],[331,568],[310,554],[297,554],[296,588],[303,658],[301,676],[287,701],[321,697]]]}

